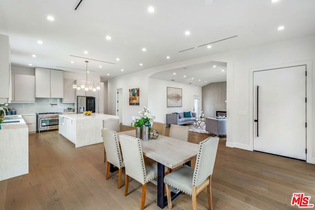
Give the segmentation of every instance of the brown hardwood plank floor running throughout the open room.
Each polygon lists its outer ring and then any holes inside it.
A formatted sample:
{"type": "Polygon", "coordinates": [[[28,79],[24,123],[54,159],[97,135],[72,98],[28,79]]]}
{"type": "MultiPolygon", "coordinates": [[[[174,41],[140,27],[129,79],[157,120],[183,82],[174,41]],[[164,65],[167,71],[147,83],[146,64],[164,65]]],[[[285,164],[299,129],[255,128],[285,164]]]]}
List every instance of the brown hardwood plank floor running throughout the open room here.
{"type": "MultiPolygon", "coordinates": [[[[168,132],[166,128],[166,135],[168,132]]],[[[190,142],[207,137],[189,132],[190,142]]],[[[118,172],[106,180],[106,164],[103,144],[75,149],[58,131],[31,134],[29,174],[0,181],[0,210],[139,209],[141,184],[130,179],[125,197],[125,173],[123,185],[117,189],[118,172]]],[[[315,165],[228,148],[221,138],[212,176],[214,210],[299,209],[290,205],[295,192],[311,196],[310,203],[315,204],[315,165]]],[[[148,183],[147,210],[160,209],[156,193],[157,187],[148,183]]],[[[185,194],[172,203],[174,210],[191,209],[191,197],[185,194]]],[[[198,194],[197,207],[207,209],[206,190],[198,194]]]]}

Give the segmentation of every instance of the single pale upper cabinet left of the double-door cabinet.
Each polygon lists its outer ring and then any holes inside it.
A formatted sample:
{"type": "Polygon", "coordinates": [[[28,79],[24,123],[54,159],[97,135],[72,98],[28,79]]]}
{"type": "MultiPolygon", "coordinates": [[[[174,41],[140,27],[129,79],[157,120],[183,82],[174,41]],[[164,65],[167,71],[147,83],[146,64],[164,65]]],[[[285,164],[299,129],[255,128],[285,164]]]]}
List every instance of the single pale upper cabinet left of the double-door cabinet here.
{"type": "Polygon", "coordinates": [[[35,76],[12,74],[11,103],[35,103],[35,76]]]}

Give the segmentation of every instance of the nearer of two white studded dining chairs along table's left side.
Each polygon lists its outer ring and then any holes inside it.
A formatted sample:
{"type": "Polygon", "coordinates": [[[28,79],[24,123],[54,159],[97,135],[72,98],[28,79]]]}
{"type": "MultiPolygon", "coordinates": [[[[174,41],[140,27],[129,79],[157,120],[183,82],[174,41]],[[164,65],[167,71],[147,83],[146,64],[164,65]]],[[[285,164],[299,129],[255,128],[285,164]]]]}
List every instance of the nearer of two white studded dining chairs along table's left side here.
{"type": "Polygon", "coordinates": [[[128,194],[129,177],[142,184],[141,210],[146,200],[146,184],[158,177],[158,163],[150,158],[144,158],[140,139],[123,135],[119,136],[125,161],[125,196],[128,194]]]}

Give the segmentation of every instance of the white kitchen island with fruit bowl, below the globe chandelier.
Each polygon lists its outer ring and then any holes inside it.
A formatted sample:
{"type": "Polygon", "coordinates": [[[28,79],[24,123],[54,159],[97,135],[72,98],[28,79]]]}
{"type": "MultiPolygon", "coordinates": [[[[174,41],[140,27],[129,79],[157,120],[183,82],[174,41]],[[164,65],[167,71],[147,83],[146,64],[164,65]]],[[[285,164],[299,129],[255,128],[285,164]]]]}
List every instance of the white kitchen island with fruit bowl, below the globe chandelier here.
{"type": "Polygon", "coordinates": [[[103,142],[103,120],[119,118],[115,115],[93,113],[59,115],[59,134],[71,141],[76,148],[103,142]]]}

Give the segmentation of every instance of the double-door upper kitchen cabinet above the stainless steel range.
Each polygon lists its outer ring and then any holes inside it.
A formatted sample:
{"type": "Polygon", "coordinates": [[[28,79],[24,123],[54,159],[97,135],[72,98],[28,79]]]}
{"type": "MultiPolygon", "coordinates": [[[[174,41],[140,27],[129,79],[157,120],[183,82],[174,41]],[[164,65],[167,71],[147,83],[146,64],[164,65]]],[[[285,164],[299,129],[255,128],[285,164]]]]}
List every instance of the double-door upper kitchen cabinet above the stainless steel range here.
{"type": "Polygon", "coordinates": [[[63,71],[35,68],[36,98],[63,98],[63,71]]]}

